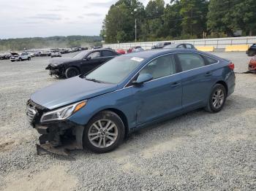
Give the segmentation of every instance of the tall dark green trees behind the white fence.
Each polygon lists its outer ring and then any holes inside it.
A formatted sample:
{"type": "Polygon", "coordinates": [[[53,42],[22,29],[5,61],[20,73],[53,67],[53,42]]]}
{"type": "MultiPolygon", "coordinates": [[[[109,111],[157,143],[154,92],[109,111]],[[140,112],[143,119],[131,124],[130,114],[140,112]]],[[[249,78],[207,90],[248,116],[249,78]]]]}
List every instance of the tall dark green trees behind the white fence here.
{"type": "Polygon", "coordinates": [[[107,43],[256,35],[255,0],[118,0],[102,24],[107,43]]]}

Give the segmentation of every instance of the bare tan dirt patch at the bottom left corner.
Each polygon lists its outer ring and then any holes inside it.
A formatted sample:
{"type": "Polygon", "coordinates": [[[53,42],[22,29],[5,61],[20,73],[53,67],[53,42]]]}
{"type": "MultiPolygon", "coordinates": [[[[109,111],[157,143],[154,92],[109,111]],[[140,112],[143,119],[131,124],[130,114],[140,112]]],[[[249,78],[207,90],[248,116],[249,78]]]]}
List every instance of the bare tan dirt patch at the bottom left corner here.
{"type": "MultiPolygon", "coordinates": [[[[67,174],[66,168],[61,165],[53,166],[47,171],[39,174],[32,174],[27,177],[16,177],[17,174],[7,176],[6,182],[10,182],[4,191],[19,190],[75,190],[78,180],[74,176],[67,174]]],[[[19,176],[19,175],[18,175],[19,176]]]]}

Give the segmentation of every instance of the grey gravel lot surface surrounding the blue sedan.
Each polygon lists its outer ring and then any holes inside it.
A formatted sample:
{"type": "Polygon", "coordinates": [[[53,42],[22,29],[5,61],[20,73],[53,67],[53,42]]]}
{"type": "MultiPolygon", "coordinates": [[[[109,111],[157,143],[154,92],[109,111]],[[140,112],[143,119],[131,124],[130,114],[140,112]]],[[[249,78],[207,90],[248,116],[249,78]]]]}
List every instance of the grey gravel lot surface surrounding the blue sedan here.
{"type": "MultiPolygon", "coordinates": [[[[217,52],[246,71],[244,52],[217,52]]],[[[68,56],[68,55],[64,55],[68,56]]],[[[114,152],[37,155],[26,122],[31,93],[60,79],[48,58],[0,61],[0,190],[255,190],[256,76],[236,74],[217,114],[189,112],[129,136],[114,152]]]]}

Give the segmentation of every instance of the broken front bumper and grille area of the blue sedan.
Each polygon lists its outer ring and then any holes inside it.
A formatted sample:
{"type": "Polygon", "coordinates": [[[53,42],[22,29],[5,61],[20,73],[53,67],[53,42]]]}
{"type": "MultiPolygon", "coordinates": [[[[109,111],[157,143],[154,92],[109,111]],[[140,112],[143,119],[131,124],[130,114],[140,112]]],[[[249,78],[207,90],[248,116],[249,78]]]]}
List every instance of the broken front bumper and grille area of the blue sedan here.
{"type": "Polygon", "coordinates": [[[83,149],[83,126],[65,120],[63,122],[40,122],[40,117],[47,109],[28,101],[26,114],[29,123],[40,134],[37,154],[52,152],[68,155],[69,150],[83,149]]]}

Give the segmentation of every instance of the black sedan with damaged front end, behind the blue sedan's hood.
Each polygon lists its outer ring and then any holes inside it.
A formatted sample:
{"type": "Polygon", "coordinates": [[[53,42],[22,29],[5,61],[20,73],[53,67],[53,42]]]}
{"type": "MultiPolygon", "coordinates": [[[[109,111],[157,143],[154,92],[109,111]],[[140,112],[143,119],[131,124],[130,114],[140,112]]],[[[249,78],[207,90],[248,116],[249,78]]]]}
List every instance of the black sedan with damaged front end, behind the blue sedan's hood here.
{"type": "Polygon", "coordinates": [[[114,50],[83,50],[72,58],[52,58],[46,67],[50,76],[75,77],[97,68],[97,66],[119,55],[114,50]]]}

